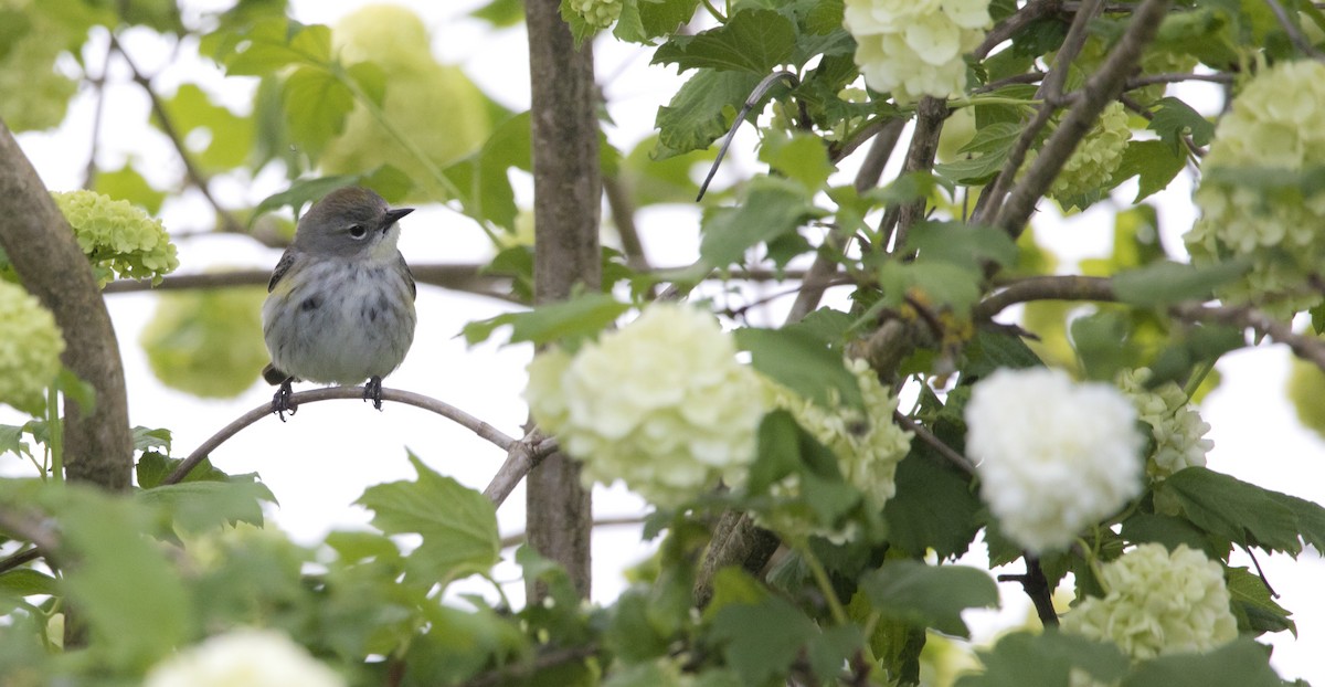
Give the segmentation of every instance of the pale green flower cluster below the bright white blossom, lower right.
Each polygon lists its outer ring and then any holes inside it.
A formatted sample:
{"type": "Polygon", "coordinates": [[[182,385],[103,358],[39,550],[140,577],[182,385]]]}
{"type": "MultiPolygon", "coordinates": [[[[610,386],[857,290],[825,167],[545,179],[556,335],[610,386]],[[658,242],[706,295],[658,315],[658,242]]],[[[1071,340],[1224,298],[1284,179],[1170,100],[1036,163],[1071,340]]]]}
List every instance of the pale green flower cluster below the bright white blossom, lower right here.
{"type": "Polygon", "coordinates": [[[1238,637],[1223,568],[1199,550],[1142,544],[1100,576],[1105,597],[1063,615],[1063,631],[1110,641],[1137,660],[1208,651],[1238,637]]]}

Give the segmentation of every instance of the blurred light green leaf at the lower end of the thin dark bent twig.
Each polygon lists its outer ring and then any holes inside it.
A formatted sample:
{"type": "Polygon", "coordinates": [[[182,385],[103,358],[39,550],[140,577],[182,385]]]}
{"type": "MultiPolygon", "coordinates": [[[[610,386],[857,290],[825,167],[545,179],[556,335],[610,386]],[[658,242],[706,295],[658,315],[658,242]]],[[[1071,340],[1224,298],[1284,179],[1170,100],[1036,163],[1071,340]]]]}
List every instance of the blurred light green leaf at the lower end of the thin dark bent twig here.
{"type": "Polygon", "coordinates": [[[704,219],[700,260],[709,268],[741,263],[747,249],[790,233],[822,214],[799,186],[786,179],[755,179],[743,203],[718,208],[704,219]]]}

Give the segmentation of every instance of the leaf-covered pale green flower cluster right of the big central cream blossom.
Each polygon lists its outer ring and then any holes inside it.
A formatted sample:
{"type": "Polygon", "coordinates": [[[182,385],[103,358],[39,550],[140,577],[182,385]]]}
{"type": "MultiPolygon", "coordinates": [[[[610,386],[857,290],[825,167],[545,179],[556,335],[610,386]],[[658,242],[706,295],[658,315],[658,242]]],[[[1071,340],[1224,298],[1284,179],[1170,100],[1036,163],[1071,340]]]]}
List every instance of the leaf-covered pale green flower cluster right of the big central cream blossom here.
{"type": "MultiPolygon", "coordinates": [[[[791,412],[798,424],[831,448],[847,483],[865,495],[868,508],[881,511],[888,499],[897,493],[897,464],[910,451],[912,434],[893,422],[897,397],[878,382],[878,375],[869,363],[857,358],[847,361],[847,367],[856,375],[865,399],[865,416],[837,399],[829,407],[823,407],[771,381],[767,382],[770,406],[791,412]]],[[[792,475],[775,485],[775,493],[795,497],[800,493],[800,485],[792,475]]],[[[762,524],[779,533],[812,533],[833,538],[849,538],[852,534],[806,531],[802,519],[791,513],[770,513],[768,521],[762,524]]]]}

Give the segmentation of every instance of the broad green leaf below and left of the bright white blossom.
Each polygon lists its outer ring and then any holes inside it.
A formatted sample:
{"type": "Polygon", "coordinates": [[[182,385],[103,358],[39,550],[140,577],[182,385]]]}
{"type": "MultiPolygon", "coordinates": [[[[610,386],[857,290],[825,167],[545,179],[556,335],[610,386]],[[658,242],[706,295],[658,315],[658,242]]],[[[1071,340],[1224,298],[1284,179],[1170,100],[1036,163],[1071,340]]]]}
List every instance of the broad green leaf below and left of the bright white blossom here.
{"type": "Polygon", "coordinates": [[[970,637],[966,609],[998,607],[998,585],[983,570],[961,565],[889,561],[860,580],[869,601],[885,617],[970,637]]]}

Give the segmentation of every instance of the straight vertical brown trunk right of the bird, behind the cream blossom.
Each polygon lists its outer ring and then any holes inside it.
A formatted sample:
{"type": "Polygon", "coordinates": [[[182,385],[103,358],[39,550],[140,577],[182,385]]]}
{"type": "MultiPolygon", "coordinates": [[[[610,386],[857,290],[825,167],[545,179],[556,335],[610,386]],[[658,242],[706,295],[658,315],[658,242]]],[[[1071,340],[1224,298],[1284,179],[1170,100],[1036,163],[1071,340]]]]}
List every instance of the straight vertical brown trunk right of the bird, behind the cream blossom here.
{"type": "MultiPolygon", "coordinates": [[[[598,89],[588,42],[576,49],[556,0],[526,0],[534,154],[534,297],[568,297],[602,282],[598,89]]],[[[547,456],[526,481],[529,544],[566,568],[588,597],[592,504],[579,464],[547,456]]],[[[542,592],[530,589],[530,597],[542,592]]]]}

